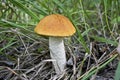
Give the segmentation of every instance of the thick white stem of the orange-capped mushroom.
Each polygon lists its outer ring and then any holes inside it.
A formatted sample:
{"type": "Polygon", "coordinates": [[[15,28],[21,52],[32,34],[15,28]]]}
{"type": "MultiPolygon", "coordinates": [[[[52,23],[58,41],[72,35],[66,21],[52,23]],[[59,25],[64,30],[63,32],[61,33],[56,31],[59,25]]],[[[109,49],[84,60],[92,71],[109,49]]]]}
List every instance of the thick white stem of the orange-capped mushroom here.
{"type": "Polygon", "coordinates": [[[66,65],[66,55],[63,38],[49,37],[49,48],[51,58],[55,60],[53,61],[55,71],[57,74],[61,74],[64,71],[64,67],[66,65]]]}

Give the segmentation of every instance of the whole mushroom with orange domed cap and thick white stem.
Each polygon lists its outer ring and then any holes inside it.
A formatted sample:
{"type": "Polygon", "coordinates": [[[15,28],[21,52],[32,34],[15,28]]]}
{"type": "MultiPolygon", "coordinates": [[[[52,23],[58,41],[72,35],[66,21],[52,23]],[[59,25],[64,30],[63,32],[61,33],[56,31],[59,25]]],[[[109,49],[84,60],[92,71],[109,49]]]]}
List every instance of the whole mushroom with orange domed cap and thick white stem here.
{"type": "Polygon", "coordinates": [[[43,18],[34,31],[37,34],[49,36],[50,56],[57,74],[64,71],[66,54],[63,38],[73,35],[76,30],[70,20],[60,14],[52,14],[43,18]]]}

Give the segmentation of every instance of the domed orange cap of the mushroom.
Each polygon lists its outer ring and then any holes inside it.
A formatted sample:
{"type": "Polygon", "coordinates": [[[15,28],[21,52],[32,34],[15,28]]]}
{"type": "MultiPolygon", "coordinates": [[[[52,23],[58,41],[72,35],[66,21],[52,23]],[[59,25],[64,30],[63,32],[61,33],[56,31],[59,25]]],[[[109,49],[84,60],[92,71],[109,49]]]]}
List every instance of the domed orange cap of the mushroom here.
{"type": "Polygon", "coordinates": [[[43,18],[34,31],[46,36],[71,36],[76,30],[68,18],[60,14],[52,14],[43,18]]]}

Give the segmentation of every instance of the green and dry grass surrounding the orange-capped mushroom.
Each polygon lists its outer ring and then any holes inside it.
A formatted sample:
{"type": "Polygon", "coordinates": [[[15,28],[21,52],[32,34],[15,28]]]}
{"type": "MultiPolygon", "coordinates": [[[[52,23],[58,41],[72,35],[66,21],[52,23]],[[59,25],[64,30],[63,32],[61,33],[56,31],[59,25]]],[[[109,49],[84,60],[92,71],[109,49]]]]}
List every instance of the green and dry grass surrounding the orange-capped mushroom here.
{"type": "Polygon", "coordinates": [[[0,74],[5,73],[0,78],[87,80],[101,76],[101,70],[118,63],[113,64],[118,53],[110,54],[118,45],[119,4],[119,0],[1,0],[0,74]],[[73,68],[67,67],[57,77],[49,60],[48,39],[33,31],[39,20],[54,13],[68,17],[77,31],[69,44],[65,42],[67,59],[74,59],[73,68]]]}

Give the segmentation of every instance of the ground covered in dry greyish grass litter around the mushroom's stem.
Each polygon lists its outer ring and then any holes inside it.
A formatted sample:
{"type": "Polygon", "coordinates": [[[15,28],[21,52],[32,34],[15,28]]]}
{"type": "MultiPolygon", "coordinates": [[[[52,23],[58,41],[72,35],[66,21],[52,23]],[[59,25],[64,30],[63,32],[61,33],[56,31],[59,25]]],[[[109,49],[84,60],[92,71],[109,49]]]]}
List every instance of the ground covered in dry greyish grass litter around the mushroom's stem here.
{"type": "Polygon", "coordinates": [[[113,45],[93,40],[89,45],[91,53],[86,54],[80,43],[70,44],[66,38],[67,66],[65,73],[58,76],[50,58],[48,38],[22,34],[17,29],[1,29],[5,33],[0,47],[7,45],[1,49],[1,80],[77,80],[94,70],[90,80],[114,80],[118,53],[113,45]]]}

